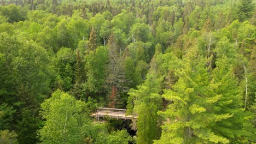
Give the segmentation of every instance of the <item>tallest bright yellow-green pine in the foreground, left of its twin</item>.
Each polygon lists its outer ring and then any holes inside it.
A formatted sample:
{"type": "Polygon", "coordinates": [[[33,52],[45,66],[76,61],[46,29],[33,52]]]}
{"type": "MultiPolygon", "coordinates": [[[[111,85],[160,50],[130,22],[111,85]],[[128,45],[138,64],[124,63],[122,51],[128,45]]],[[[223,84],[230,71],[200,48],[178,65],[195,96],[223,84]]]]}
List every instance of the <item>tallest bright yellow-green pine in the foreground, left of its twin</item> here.
{"type": "MultiPolygon", "coordinates": [[[[162,136],[156,143],[196,143],[202,142],[199,137],[196,139],[195,131],[205,127],[200,118],[204,115],[207,99],[207,85],[209,78],[204,65],[205,59],[197,58],[197,53],[190,50],[187,58],[180,64],[176,75],[178,82],[172,88],[165,91],[163,95],[166,100],[173,101],[162,115],[167,118],[166,124],[162,127],[162,136]],[[198,84],[197,84],[198,83],[198,84]],[[202,126],[200,126],[202,125],[202,126]]],[[[209,135],[210,133],[208,133],[209,135]]]]}

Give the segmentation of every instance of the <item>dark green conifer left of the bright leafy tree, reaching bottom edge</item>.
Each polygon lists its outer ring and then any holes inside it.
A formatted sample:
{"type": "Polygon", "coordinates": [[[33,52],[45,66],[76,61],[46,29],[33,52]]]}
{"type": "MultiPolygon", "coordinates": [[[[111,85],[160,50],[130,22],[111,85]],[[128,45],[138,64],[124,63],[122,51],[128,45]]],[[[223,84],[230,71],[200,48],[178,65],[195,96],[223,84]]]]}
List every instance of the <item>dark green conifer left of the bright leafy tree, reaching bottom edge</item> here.
{"type": "Polygon", "coordinates": [[[17,113],[15,115],[15,130],[19,143],[36,143],[39,129],[39,103],[30,89],[21,85],[18,88],[17,113]]]}

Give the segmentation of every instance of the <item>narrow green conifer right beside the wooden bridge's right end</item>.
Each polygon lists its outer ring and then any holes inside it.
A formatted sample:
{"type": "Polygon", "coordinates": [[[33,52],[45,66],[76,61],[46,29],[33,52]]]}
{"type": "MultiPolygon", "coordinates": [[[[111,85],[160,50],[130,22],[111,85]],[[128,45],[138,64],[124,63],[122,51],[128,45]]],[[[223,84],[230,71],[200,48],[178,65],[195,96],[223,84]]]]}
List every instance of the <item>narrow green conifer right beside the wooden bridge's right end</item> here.
{"type": "Polygon", "coordinates": [[[137,143],[153,143],[159,139],[159,127],[157,115],[161,108],[160,84],[154,72],[147,75],[147,80],[138,86],[138,90],[131,89],[129,105],[134,104],[133,112],[137,117],[137,143]]]}

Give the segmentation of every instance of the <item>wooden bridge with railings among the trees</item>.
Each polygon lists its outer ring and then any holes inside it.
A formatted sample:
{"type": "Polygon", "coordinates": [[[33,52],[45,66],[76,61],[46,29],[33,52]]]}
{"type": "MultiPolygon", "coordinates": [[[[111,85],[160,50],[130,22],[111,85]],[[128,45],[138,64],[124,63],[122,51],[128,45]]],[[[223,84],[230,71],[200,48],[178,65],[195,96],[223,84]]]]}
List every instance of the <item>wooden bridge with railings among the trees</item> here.
{"type": "Polygon", "coordinates": [[[126,116],[125,109],[113,109],[113,108],[106,108],[106,107],[98,107],[95,113],[92,113],[92,117],[96,117],[97,121],[100,120],[100,117],[108,116],[111,118],[117,119],[136,119],[137,115],[128,115],[126,116]]]}

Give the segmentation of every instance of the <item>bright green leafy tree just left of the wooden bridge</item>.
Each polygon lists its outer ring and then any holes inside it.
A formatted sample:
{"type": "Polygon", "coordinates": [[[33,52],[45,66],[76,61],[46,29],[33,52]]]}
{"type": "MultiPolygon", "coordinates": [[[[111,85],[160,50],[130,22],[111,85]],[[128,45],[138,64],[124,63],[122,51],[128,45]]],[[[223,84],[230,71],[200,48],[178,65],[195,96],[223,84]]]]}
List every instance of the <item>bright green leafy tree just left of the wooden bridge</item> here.
{"type": "Polygon", "coordinates": [[[82,101],[60,90],[42,104],[41,115],[46,119],[39,130],[43,143],[81,143],[83,125],[88,124],[88,110],[82,101]]]}

